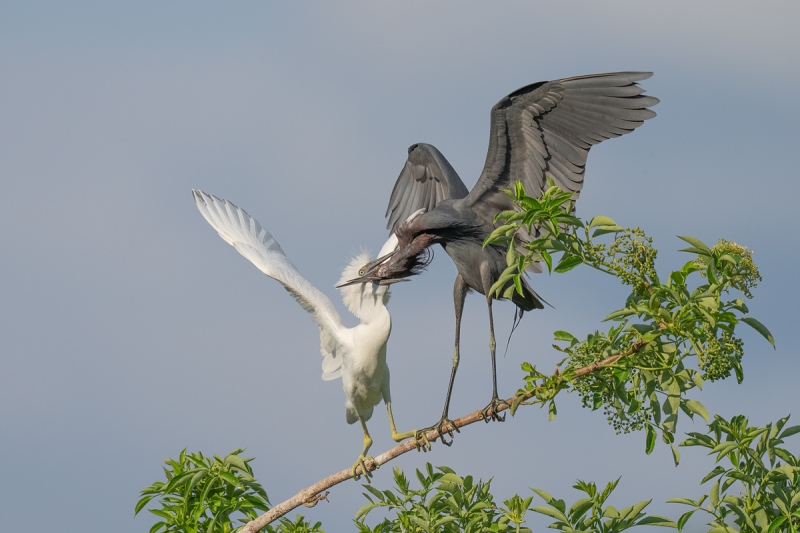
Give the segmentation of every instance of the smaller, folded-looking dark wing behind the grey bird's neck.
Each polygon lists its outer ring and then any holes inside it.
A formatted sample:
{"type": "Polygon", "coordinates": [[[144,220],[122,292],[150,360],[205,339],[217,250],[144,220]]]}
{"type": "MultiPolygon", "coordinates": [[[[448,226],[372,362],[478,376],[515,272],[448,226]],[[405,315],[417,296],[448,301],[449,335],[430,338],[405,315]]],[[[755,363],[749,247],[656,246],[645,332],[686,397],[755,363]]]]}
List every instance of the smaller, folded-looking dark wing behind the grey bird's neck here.
{"type": "Polygon", "coordinates": [[[447,198],[464,198],[467,188],[442,153],[430,144],[414,144],[394,184],[386,216],[391,233],[419,209],[430,211],[447,198]]]}

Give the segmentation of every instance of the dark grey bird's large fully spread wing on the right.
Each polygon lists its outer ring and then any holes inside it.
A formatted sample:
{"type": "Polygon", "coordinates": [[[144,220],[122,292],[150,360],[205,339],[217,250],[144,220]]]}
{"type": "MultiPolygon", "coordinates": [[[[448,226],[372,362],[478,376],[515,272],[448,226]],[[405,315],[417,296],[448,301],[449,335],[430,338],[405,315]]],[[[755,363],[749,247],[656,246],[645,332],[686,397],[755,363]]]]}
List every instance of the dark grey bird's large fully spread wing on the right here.
{"type": "Polygon", "coordinates": [[[636,82],[652,72],[613,72],[539,82],[500,100],[491,114],[489,151],[468,205],[492,221],[513,208],[502,189],[516,181],[538,196],[547,176],[577,198],[589,149],[633,131],[654,117],[658,98],[636,82]]]}

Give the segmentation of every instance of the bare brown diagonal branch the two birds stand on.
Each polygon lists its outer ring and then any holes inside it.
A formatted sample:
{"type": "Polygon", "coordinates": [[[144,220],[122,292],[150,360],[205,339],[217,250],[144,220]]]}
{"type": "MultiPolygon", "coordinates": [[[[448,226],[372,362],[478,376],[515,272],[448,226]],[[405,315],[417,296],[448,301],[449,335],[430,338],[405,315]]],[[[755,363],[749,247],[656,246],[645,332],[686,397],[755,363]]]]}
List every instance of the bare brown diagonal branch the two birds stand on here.
{"type": "MultiPolygon", "coordinates": [[[[607,357],[601,361],[596,361],[590,365],[586,365],[584,367],[578,368],[575,370],[573,374],[574,378],[579,378],[581,376],[585,376],[587,374],[591,374],[593,372],[597,372],[598,370],[602,369],[603,367],[612,365],[623,359],[632,355],[639,350],[641,350],[647,341],[645,340],[638,340],[634,342],[628,350],[623,353],[619,353],[616,355],[612,355],[611,357],[607,357]]],[[[511,398],[507,399],[505,402],[507,405],[499,406],[497,412],[502,412],[508,409],[508,406],[513,405],[514,401],[518,399],[519,396],[522,396],[522,400],[526,400],[532,398],[539,388],[527,391],[524,394],[515,394],[511,398]]],[[[457,418],[453,420],[454,428],[449,428],[451,431],[455,431],[455,428],[461,428],[464,426],[468,426],[470,424],[474,424],[475,422],[483,420],[483,415],[481,411],[474,411],[468,415],[462,416],[461,418],[457,418]]],[[[445,425],[442,429],[447,431],[448,425],[445,425]]],[[[433,442],[439,436],[439,432],[435,429],[429,431],[427,433],[428,440],[433,442]]],[[[384,453],[380,454],[379,456],[375,457],[374,461],[367,461],[366,467],[368,471],[376,470],[379,466],[388,463],[395,457],[403,455],[404,453],[410,452],[411,450],[417,449],[417,444],[414,440],[408,440],[402,444],[391,448],[390,450],[385,451],[384,453]]],[[[359,466],[356,469],[356,472],[359,474],[363,474],[361,467],[359,466]]],[[[340,472],[335,474],[331,474],[330,476],[326,477],[325,479],[321,479],[320,481],[316,482],[315,484],[307,487],[293,497],[289,498],[285,502],[279,503],[263,515],[259,516],[255,520],[248,522],[241,530],[240,533],[258,533],[266,525],[274,522],[278,518],[284,516],[286,513],[291,511],[292,509],[296,509],[301,505],[305,505],[307,507],[314,507],[320,500],[326,499],[327,492],[325,494],[321,494],[323,491],[327,491],[327,489],[333,487],[334,485],[338,485],[342,481],[348,480],[353,477],[352,468],[346,468],[340,472]]]]}

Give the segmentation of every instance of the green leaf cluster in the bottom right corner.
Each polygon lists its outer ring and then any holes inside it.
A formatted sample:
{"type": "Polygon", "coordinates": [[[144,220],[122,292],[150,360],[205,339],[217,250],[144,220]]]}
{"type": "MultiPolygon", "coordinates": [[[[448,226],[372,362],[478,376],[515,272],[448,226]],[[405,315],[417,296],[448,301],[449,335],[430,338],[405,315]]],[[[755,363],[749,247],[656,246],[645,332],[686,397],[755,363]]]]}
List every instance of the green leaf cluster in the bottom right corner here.
{"type": "Polygon", "coordinates": [[[697,500],[669,500],[693,507],[680,517],[678,529],[694,513],[704,511],[712,517],[712,533],[797,532],[800,455],[792,455],[781,445],[783,439],[800,433],[800,426],[786,427],[788,420],[787,416],[775,424],[754,427],[742,415],[730,420],[715,416],[708,434],[689,433],[680,445],[708,448],[709,455],[716,455],[717,466],[702,481],[714,482],[710,494],[697,500]]]}

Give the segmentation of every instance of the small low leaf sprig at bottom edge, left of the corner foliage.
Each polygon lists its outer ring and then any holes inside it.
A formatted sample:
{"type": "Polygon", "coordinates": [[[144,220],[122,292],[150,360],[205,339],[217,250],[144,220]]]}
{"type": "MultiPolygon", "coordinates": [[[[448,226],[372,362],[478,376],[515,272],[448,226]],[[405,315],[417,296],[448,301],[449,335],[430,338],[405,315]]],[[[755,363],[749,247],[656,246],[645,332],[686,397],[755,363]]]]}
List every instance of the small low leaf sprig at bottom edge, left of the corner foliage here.
{"type": "Polygon", "coordinates": [[[547,505],[534,507],[531,511],[553,518],[550,528],[561,531],[586,531],[593,533],[619,533],[636,526],[676,527],[675,522],[663,516],[646,516],[644,509],[651,500],[617,510],[612,505],[604,506],[606,500],[617,487],[619,479],[606,485],[602,492],[593,483],[578,481],[573,487],[586,494],[573,503],[569,509],[564,500],[557,500],[541,489],[532,489],[547,505]]]}

